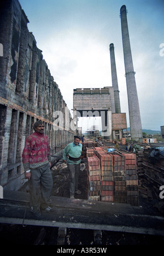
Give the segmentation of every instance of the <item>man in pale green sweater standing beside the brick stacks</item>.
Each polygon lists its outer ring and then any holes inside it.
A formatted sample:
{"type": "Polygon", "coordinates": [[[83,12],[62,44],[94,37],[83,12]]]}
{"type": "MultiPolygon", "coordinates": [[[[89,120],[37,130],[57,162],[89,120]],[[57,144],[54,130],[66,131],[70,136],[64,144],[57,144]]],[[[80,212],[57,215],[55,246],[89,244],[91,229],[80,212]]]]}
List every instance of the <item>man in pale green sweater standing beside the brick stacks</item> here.
{"type": "Polygon", "coordinates": [[[74,193],[80,194],[78,190],[78,179],[80,172],[80,156],[83,145],[80,142],[79,136],[74,136],[74,142],[69,143],[63,150],[63,160],[67,162],[69,170],[69,181],[70,181],[70,197],[74,199],[74,193]]]}

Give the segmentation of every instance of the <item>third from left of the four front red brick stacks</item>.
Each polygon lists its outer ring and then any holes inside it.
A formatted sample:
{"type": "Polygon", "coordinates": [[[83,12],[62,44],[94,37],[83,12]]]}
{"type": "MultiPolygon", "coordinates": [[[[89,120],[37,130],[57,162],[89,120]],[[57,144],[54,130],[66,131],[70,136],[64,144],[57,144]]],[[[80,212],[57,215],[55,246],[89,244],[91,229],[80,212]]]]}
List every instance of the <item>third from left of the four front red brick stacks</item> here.
{"type": "Polygon", "coordinates": [[[125,156],[113,154],[114,165],[114,202],[126,203],[125,156]]]}

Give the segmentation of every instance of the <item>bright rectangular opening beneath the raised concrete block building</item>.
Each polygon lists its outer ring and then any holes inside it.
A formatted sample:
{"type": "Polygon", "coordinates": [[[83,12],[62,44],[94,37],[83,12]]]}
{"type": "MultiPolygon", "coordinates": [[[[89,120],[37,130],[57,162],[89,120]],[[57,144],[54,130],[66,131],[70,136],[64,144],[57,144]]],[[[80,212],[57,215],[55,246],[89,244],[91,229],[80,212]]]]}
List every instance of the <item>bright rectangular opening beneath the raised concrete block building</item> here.
{"type": "Polygon", "coordinates": [[[78,127],[81,127],[82,133],[87,136],[101,135],[102,118],[101,117],[80,117],[78,118],[78,127]]]}

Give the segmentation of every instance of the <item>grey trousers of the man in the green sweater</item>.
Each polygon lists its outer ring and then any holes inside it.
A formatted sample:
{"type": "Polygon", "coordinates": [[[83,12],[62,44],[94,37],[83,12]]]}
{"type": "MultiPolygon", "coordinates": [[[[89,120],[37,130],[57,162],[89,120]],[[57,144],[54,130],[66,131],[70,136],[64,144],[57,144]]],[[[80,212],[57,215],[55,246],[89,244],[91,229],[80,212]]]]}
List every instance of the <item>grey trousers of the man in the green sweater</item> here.
{"type": "Polygon", "coordinates": [[[69,191],[70,196],[74,196],[74,191],[78,190],[78,179],[80,173],[80,164],[78,165],[68,165],[69,170],[69,191]]]}

